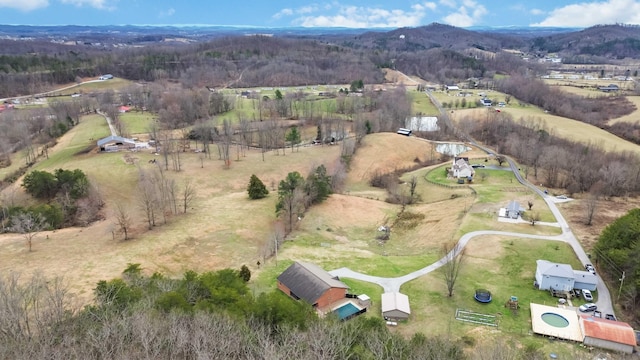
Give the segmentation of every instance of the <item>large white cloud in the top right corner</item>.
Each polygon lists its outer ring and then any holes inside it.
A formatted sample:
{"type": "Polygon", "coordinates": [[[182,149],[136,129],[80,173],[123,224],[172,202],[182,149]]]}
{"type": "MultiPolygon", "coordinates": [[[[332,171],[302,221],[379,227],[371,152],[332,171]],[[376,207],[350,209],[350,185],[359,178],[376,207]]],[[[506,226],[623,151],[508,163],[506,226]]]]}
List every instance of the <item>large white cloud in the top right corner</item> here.
{"type": "Polygon", "coordinates": [[[563,6],[531,26],[589,27],[599,24],[640,24],[640,1],[607,0],[563,6]]]}

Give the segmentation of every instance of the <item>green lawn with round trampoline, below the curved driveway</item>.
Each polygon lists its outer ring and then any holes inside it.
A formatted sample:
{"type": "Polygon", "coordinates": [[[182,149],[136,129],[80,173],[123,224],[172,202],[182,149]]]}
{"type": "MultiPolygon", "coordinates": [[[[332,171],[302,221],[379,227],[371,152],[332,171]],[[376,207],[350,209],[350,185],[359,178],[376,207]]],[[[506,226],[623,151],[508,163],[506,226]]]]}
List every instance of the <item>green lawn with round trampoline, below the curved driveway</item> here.
{"type": "MultiPolygon", "coordinates": [[[[403,325],[403,332],[421,331],[429,335],[464,334],[478,325],[455,320],[456,309],[466,309],[496,315],[498,329],[506,333],[526,335],[531,329],[529,303],[554,305],[557,299],[548,292],[533,287],[536,260],[544,259],[570,264],[574,269],[582,265],[570,246],[556,241],[525,240],[508,237],[483,236],[469,242],[460,276],[451,298],[440,270],[405,284],[401,292],[409,296],[412,319],[403,325]],[[476,289],[487,289],[493,301],[475,301],[476,289]],[[511,296],[518,298],[517,311],[505,308],[511,296]]],[[[574,301],[574,306],[583,301],[574,301]]],[[[486,327],[486,331],[491,328],[486,327]]]]}

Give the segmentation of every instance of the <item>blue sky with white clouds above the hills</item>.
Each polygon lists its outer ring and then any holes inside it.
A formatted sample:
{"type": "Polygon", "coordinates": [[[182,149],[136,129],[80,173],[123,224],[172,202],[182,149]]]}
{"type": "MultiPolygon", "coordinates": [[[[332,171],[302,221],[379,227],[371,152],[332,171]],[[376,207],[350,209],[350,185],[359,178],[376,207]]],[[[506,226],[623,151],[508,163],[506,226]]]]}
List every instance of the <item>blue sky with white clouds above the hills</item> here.
{"type": "Polygon", "coordinates": [[[640,0],[0,0],[4,25],[640,25],[640,0]]]}

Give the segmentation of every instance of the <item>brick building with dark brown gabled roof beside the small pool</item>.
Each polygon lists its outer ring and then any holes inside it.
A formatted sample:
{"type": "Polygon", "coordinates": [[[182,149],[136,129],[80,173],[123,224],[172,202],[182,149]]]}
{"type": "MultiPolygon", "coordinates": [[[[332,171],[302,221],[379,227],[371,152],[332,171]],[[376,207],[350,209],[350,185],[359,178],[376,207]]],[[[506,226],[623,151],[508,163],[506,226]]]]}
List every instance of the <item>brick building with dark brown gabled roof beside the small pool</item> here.
{"type": "Polygon", "coordinates": [[[278,276],[278,289],[316,308],[327,307],[347,296],[347,286],[319,266],[297,261],[278,276]]]}

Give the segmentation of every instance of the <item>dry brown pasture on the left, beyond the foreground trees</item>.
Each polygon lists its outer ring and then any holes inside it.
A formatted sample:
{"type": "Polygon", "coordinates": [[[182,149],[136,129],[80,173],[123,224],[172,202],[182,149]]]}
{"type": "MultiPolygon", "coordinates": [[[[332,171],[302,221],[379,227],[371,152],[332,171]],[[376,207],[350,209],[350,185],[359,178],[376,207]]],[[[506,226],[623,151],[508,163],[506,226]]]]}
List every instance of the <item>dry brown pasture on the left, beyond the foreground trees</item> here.
{"type": "MultiPolygon", "coordinates": [[[[74,134],[71,130],[63,136],[59,149],[64,149],[74,134]]],[[[53,149],[52,154],[55,151],[62,150],[53,149]]],[[[260,151],[250,150],[239,161],[232,157],[230,169],[217,157],[205,160],[201,167],[199,154],[184,153],[183,171],[167,174],[175,177],[178,186],[190,179],[197,188],[196,199],[186,215],[175,216],[151,231],[147,231],[138,207],[135,183],[137,167],[153,169],[156,165],[148,160],[158,156],[149,152],[76,155],[64,167],[80,168],[98,184],[106,200],[105,219],[85,228],[43,232],[35,238],[33,252],[27,251],[21,236],[0,235],[0,273],[39,270],[48,276],[62,276],[72,291],[87,301],[98,280],[119,276],[128,263],[140,263],[148,272],[162,271],[172,276],[186,269],[206,271],[242,264],[255,267],[259,249],[273,227],[277,196],[272,192],[267,199],[250,201],[246,186],[251,174],[272,190],[272,184],[291,171],[306,176],[319,164],[326,164],[331,171],[339,153],[338,146],[301,147],[295,153],[287,150],[286,155],[265,153],[262,161],[260,151]],[[125,157],[135,163],[125,163],[125,157]],[[127,205],[134,216],[134,238],[130,241],[113,238],[116,202],[127,205]]],[[[51,171],[58,166],[50,168],[45,161],[38,168],[51,171]]],[[[22,193],[17,184],[5,191],[22,193]]]]}

